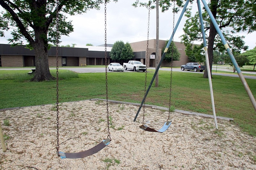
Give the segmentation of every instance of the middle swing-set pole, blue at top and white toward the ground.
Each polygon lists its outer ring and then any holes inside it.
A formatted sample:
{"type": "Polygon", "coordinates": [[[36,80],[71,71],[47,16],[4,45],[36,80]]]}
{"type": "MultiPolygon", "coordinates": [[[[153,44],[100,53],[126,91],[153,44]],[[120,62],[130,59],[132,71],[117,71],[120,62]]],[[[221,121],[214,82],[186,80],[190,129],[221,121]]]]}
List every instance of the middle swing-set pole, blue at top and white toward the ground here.
{"type": "Polygon", "coordinates": [[[217,118],[216,118],[216,113],[215,113],[215,106],[214,106],[213,90],[212,90],[212,77],[211,77],[211,70],[210,70],[210,62],[209,62],[209,56],[208,56],[208,51],[207,51],[207,46],[206,46],[206,38],[205,38],[205,32],[204,32],[203,15],[202,15],[201,6],[200,6],[200,0],[197,0],[196,2],[197,2],[197,8],[198,8],[198,13],[199,13],[199,18],[200,18],[201,31],[202,31],[203,40],[204,40],[204,54],[205,54],[205,59],[206,59],[206,67],[207,67],[208,80],[209,80],[209,86],[210,86],[210,92],[211,92],[212,113],[213,113],[213,117],[214,117],[215,128],[218,129],[217,118]]]}

